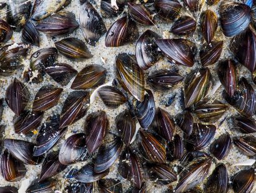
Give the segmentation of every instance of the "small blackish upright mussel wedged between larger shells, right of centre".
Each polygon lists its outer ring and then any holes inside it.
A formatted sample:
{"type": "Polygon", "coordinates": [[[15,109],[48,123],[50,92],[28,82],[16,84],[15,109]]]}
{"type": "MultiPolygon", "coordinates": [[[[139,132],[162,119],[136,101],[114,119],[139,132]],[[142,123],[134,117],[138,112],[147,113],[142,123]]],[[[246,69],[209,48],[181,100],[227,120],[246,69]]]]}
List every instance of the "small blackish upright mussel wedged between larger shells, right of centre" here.
{"type": "Polygon", "coordinates": [[[187,136],[189,136],[192,133],[194,119],[189,111],[184,111],[183,113],[178,114],[177,117],[175,118],[175,121],[179,128],[182,129],[182,131],[187,136]]]}

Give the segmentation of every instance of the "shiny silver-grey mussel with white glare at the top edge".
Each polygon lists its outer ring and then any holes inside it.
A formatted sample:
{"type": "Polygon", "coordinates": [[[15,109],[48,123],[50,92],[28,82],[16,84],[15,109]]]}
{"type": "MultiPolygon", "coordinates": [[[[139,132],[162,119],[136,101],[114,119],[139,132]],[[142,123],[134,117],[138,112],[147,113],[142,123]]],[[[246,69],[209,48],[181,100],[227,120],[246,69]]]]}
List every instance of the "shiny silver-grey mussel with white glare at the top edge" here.
{"type": "Polygon", "coordinates": [[[94,46],[102,35],[107,32],[101,16],[89,1],[86,1],[81,7],[80,27],[86,42],[94,46]]]}

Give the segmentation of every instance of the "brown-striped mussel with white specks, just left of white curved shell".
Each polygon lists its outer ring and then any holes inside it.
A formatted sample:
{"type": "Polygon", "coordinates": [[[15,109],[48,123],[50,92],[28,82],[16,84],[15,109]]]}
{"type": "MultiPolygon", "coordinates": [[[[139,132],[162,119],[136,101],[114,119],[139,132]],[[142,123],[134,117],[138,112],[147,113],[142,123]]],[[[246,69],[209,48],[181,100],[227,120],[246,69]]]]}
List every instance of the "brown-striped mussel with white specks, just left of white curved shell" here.
{"type": "Polygon", "coordinates": [[[89,107],[89,93],[84,91],[71,92],[62,106],[60,128],[72,125],[86,115],[89,107]]]}

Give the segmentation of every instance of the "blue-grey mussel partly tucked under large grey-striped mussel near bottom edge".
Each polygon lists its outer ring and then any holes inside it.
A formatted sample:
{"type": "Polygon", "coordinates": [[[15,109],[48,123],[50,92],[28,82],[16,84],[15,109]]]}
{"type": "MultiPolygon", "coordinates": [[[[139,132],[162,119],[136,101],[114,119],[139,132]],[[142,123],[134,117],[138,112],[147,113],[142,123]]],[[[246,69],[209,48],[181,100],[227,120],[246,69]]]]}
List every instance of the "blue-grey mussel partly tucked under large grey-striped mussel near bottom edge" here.
{"type": "Polygon", "coordinates": [[[99,181],[100,179],[102,179],[102,177],[107,176],[107,174],[109,174],[109,169],[107,169],[104,172],[96,173],[94,171],[94,163],[89,162],[85,166],[81,167],[81,169],[77,171],[74,177],[79,182],[89,183],[89,182],[99,181]]]}

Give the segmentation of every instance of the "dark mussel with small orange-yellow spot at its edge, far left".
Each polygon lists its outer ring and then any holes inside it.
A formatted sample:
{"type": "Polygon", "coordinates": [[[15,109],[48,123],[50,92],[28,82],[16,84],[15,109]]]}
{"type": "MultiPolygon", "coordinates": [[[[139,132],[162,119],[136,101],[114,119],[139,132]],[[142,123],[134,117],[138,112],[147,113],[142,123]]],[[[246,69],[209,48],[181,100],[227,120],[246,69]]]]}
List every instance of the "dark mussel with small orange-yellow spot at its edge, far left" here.
{"type": "Polygon", "coordinates": [[[43,116],[44,112],[27,110],[23,111],[19,116],[14,116],[12,121],[15,133],[34,133],[41,124],[43,116]]]}

